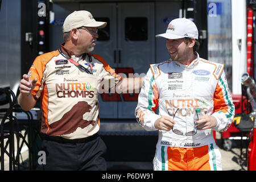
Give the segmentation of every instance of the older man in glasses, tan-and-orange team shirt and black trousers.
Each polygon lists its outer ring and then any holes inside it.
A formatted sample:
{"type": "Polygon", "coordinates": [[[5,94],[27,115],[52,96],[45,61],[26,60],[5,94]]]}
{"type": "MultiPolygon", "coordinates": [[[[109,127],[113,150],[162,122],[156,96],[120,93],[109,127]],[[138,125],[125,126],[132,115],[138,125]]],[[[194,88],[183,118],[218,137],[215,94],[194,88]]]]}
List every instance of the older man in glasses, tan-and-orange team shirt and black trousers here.
{"type": "Polygon", "coordinates": [[[89,53],[96,45],[98,28],[105,26],[88,11],[69,14],[63,24],[65,43],[36,57],[20,80],[18,101],[24,110],[40,98],[47,170],[106,169],[106,146],[97,134],[99,91],[119,84],[126,92],[127,84],[141,78],[122,79],[101,56],[89,53]]]}

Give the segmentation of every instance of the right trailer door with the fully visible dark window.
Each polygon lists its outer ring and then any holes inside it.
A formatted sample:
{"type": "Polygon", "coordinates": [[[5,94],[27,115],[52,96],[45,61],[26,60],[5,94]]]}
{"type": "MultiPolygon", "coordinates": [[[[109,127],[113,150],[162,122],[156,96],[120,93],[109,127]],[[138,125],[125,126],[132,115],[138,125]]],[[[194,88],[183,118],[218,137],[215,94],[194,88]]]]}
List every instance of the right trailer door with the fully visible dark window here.
{"type": "MultiPolygon", "coordinates": [[[[118,4],[118,68],[126,73],[147,73],[155,62],[154,3],[118,4]]],[[[119,118],[134,118],[138,94],[123,94],[119,118]]]]}

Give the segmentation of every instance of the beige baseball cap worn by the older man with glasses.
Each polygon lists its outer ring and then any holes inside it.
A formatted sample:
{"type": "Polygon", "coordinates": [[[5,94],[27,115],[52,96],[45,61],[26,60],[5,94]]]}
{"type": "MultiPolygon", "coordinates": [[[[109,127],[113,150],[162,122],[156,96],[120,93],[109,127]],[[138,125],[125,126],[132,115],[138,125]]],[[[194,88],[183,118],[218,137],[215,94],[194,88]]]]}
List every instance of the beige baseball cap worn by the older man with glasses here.
{"type": "Polygon", "coordinates": [[[89,11],[81,10],[74,11],[67,16],[63,23],[62,30],[63,32],[69,32],[72,28],[79,28],[82,26],[104,28],[106,24],[106,22],[96,22],[89,11]]]}

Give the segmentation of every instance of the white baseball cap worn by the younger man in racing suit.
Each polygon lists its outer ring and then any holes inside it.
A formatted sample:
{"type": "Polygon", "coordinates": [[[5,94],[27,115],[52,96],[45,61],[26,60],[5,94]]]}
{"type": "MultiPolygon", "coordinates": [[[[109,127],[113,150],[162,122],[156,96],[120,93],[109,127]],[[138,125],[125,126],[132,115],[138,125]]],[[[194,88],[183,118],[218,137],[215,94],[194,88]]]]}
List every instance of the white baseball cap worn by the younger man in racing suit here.
{"type": "Polygon", "coordinates": [[[195,38],[198,39],[198,30],[196,24],[187,18],[176,18],[172,20],[164,34],[158,34],[156,38],[181,39],[195,38]]]}

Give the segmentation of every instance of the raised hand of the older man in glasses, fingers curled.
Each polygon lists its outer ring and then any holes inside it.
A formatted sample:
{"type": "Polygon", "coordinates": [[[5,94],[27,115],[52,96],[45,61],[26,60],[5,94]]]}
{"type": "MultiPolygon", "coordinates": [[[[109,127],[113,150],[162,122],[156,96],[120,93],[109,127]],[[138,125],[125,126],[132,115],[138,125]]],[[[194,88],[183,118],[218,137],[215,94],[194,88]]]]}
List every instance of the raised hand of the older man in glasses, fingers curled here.
{"type": "Polygon", "coordinates": [[[36,81],[38,81],[37,78],[34,78],[34,80],[31,81],[28,75],[24,74],[22,80],[20,80],[19,92],[21,94],[27,94],[27,96],[29,96],[31,91],[36,86],[36,81]]]}

